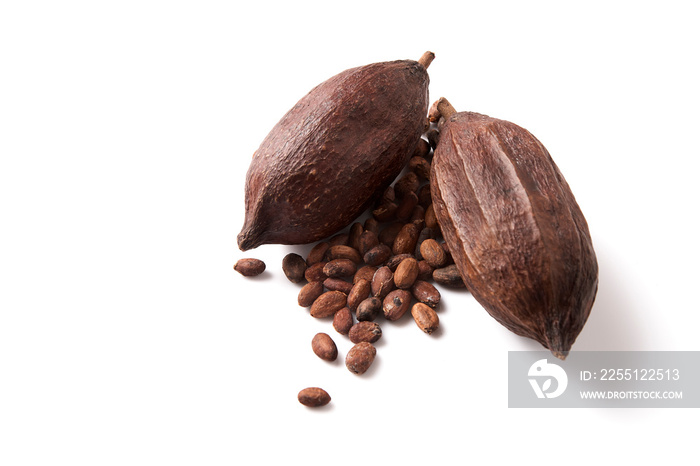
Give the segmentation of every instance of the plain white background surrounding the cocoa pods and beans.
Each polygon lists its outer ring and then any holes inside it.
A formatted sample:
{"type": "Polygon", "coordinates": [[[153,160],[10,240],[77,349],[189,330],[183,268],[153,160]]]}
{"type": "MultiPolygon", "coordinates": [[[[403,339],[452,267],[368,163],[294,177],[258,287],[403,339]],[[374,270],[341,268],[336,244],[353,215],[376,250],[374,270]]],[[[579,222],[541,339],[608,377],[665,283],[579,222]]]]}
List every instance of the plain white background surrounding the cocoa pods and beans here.
{"type": "Polygon", "coordinates": [[[534,133],[588,219],[574,350],[700,350],[694,2],[335,5],[2,3],[0,464],[694,462],[697,410],[508,409],[507,352],[538,346],[466,292],[437,335],[384,325],[354,376],[281,272],[308,248],[235,245],[252,153],[299,98],[432,50],[431,101],[534,133]]]}

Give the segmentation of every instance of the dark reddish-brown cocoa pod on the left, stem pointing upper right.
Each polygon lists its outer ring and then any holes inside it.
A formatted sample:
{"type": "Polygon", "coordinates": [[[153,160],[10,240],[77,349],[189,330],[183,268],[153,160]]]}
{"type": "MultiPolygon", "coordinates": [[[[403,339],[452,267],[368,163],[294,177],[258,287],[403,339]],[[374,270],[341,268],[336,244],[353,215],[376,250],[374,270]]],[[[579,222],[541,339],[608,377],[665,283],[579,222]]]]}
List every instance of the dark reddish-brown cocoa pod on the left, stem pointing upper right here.
{"type": "Polygon", "coordinates": [[[352,68],[297,102],[253,154],[238,247],[312,243],[370,207],[421,139],[433,58],[352,68]]]}

